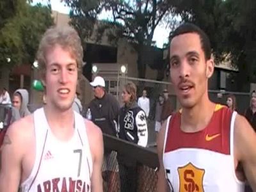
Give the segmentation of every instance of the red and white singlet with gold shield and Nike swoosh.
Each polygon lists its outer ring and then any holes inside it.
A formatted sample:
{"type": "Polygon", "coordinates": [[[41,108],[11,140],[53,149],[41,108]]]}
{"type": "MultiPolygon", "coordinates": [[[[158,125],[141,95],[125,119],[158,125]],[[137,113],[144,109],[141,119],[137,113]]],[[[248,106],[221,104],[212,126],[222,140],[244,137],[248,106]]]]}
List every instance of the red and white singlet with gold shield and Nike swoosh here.
{"type": "Polygon", "coordinates": [[[164,138],[163,165],[171,190],[244,191],[244,183],[237,179],[234,165],[237,113],[217,104],[205,129],[191,133],[180,130],[181,113],[168,118],[164,138]]]}

